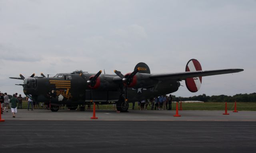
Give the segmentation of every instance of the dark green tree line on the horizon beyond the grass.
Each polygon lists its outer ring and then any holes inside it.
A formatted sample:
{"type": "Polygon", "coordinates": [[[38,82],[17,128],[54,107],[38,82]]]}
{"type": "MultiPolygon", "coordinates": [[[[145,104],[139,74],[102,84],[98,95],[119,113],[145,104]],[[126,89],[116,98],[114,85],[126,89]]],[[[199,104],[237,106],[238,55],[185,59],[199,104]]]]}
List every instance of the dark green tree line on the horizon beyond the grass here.
{"type": "Polygon", "coordinates": [[[236,94],[234,96],[218,95],[206,96],[206,94],[192,97],[176,97],[172,95],[173,101],[203,101],[203,102],[256,102],[256,93],[236,94]]]}

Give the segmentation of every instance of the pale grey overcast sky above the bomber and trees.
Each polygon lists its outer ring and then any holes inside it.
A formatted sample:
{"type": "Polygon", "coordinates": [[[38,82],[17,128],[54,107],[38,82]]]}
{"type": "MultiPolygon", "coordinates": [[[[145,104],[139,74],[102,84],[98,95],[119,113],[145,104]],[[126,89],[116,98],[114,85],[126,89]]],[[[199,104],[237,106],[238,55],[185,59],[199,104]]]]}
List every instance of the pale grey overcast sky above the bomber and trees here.
{"type": "Polygon", "coordinates": [[[0,91],[22,92],[36,73],[126,74],[144,62],[151,73],[203,70],[243,72],[203,77],[196,93],[256,92],[256,0],[0,0],[0,91]]]}

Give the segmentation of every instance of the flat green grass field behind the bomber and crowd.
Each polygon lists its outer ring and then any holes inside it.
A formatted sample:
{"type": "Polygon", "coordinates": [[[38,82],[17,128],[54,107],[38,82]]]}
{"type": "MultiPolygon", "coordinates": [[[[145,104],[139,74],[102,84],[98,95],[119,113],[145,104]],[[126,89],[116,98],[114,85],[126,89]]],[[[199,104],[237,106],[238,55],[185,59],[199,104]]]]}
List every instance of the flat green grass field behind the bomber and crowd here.
{"type": "MultiPolygon", "coordinates": [[[[41,104],[41,103],[40,103],[41,104]]],[[[151,106],[151,104],[150,104],[151,106]]],[[[148,105],[147,109],[150,110],[150,106],[148,105]]],[[[178,103],[180,108],[180,103],[178,103]]],[[[237,110],[250,110],[256,111],[256,102],[236,102],[237,110]]],[[[22,108],[27,109],[28,102],[22,102],[22,108]]],[[[234,102],[227,103],[228,110],[234,110],[234,102]]],[[[87,107],[86,107],[87,108],[87,107]]],[[[92,108],[92,107],[91,107],[92,108]]],[[[97,106],[96,106],[96,109],[97,106]]],[[[100,110],[112,110],[113,104],[111,105],[99,105],[100,110]]],[[[132,103],[129,103],[129,109],[132,109],[132,103]]],[[[176,109],[176,103],[172,103],[172,110],[176,109]]],[[[193,102],[193,103],[182,103],[183,110],[225,110],[224,102],[193,102]]],[[[138,103],[135,103],[134,110],[138,110],[138,103]]]]}

